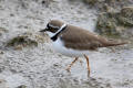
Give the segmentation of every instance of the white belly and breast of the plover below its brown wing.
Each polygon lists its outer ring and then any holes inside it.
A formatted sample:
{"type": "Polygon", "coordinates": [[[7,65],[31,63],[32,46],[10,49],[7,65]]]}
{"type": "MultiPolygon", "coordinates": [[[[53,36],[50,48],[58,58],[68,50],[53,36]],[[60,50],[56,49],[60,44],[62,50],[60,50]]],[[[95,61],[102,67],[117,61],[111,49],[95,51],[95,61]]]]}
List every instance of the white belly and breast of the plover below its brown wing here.
{"type": "Polygon", "coordinates": [[[72,48],[66,48],[64,47],[63,42],[58,38],[55,42],[52,43],[53,44],[53,48],[66,56],[72,56],[72,57],[79,57],[79,56],[83,56],[84,54],[88,55],[90,52],[89,51],[76,51],[76,50],[72,50],[72,48]]]}

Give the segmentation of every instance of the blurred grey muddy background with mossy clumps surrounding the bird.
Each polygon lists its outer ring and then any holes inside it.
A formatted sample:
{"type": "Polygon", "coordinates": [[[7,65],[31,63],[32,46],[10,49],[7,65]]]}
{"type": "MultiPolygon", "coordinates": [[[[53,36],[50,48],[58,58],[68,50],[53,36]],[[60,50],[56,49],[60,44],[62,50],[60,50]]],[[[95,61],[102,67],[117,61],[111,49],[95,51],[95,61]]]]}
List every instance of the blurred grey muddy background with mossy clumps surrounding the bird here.
{"type": "Polygon", "coordinates": [[[0,0],[0,88],[132,88],[133,0],[0,0]],[[79,62],[58,54],[39,33],[50,20],[130,44],[79,62]]]}

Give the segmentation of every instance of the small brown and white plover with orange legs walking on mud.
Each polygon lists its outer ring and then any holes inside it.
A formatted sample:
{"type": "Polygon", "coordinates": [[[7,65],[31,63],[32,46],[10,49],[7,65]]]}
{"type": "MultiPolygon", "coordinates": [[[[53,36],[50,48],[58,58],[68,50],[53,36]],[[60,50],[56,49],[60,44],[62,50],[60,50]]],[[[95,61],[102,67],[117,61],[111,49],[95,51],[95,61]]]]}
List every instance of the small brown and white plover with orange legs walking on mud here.
{"type": "Polygon", "coordinates": [[[60,20],[51,20],[47,28],[40,30],[45,32],[52,40],[52,46],[62,55],[74,57],[74,61],[66,67],[70,72],[72,65],[79,57],[85,57],[88,65],[88,76],[90,77],[91,68],[88,55],[90,52],[96,52],[101,47],[117,46],[126,44],[126,42],[116,42],[108,40],[86,29],[66,24],[60,20]]]}

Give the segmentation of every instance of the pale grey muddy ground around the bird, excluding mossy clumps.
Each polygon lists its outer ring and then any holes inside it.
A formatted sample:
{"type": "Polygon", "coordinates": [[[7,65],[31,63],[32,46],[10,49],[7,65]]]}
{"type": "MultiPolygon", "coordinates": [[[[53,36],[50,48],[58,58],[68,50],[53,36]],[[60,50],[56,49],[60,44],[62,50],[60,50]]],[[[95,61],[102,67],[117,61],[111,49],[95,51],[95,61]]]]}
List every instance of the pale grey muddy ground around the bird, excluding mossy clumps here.
{"type": "Polygon", "coordinates": [[[115,52],[103,48],[89,55],[90,78],[84,58],[81,58],[82,65],[78,62],[71,74],[68,73],[65,68],[73,58],[55,53],[49,38],[38,31],[50,19],[93,31],[96,11],[80,1],[53,0],[45,3],[42,4],[41,0],[0,0],[0,28],[8,30],[0,36],[0,88],[21,88],[22,85],[27,88],[133,87],[133,48],[127,48],[129,45],[115,47],[115,52]],[[38,35],[44,40],[39,41],[38,47],[20,51],[3,47],[7,41],[25,32],[31,33],[34,40],[38,35]]]}

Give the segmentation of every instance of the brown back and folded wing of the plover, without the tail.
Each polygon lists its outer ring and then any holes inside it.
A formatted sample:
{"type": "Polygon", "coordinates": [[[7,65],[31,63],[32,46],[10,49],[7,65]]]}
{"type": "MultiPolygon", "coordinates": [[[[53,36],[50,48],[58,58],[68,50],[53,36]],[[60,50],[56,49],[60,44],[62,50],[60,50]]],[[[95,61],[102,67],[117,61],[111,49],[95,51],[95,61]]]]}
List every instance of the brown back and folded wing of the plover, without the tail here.
{"type": "Polygon", "coordinates": [[[94,51],[98,47],[103,47],[106,43],[104,37],[73,25],[68,25],[61,34],[61,40],[68,48],[80,51],[94,51]]]}

